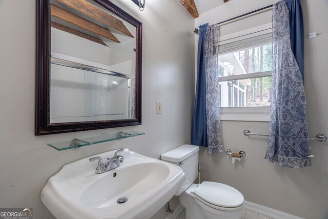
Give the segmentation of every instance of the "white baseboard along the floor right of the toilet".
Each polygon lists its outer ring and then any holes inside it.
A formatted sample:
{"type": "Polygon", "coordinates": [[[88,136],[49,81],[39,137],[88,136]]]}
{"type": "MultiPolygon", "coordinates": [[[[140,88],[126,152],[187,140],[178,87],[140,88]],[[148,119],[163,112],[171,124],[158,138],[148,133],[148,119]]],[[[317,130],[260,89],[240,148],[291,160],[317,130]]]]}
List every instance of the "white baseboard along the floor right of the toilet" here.
{"type": "Polygon", "coordinates": [[[274,219],[304,219],[303,217],[295,216],[293,214],[289,214],[283,211],[278,211],[273,208],[268,208],[263,205],[259,205],[253,202],[245,201],[244,209],[250,210],[259,214],[262,214],[267,217],[271,217],[274,219]]]}

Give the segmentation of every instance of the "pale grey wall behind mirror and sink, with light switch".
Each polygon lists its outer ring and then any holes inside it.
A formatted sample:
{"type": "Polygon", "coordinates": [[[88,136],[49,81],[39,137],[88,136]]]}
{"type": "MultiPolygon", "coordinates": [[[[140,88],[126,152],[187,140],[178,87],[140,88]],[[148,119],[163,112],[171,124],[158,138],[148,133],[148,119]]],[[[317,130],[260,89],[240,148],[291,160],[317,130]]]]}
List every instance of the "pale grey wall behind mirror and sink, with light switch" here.
{"type": "MultiPolygon", "coordinates": [[[[142,12],[132,1],[113,1],[143,23],[142,125],[34,136],[35,2],[0,1],[0,207],[28,206],[35,218],[52,218],[39,195],[63,165],[122,147],[159,158],[190,143],[194,20],[177,0],[148,1],[142,12]],[[162,101],[162,114],[156,114],[156,101],[162,101]],[[46,145],[132,129],[146,134],[74,151],[59,152],[46,145]]],[[[165,212],[161,209],[156,215],[161,218],[165,212]]]]}

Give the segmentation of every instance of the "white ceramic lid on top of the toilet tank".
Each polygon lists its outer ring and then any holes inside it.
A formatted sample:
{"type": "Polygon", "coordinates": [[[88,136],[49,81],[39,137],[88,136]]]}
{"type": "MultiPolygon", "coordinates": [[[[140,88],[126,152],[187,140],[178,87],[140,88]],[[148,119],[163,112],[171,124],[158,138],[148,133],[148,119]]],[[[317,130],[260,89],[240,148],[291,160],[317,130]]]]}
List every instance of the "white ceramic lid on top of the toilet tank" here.
{"type": "Polygon", "coordinates": [[[160,158],[162,161],[181,162],[197,151],[199,151],[199,147],[196,145],[182,145],[163,153],[160,158]]]}

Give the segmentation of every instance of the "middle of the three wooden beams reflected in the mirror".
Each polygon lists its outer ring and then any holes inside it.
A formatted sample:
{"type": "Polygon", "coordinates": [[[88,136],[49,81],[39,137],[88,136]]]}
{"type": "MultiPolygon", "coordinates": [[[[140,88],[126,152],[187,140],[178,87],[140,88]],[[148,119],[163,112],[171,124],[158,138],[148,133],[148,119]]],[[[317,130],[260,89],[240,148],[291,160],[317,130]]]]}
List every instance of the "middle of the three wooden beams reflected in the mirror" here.
{"type": "Polygon", "coordinates": [[[88,21],[83,17],[80,17],[76,14],[73,14],[69,11],[59,8],[54,4],[51,4],[51,15],[119,43],[118,39],[114,36],[114,34],[111,31],[93,22],[88,21]]]}

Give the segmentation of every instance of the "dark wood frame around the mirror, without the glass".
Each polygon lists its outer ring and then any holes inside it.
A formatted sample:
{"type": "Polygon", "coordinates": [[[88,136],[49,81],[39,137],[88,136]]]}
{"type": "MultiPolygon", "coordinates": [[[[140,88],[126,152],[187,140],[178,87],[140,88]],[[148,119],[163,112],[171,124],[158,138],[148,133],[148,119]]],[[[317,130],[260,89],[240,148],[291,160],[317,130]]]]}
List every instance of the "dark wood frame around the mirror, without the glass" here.
{"type": "Polygon", "coordinates": [[[50,0],[37,0],[35,135],[141,125],[142,24],[108,0],[93,0],[136,27],[135,119],[50,123],[50,0]]]}

